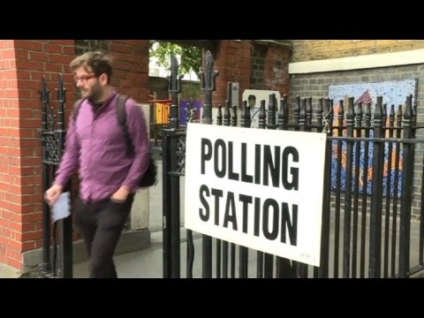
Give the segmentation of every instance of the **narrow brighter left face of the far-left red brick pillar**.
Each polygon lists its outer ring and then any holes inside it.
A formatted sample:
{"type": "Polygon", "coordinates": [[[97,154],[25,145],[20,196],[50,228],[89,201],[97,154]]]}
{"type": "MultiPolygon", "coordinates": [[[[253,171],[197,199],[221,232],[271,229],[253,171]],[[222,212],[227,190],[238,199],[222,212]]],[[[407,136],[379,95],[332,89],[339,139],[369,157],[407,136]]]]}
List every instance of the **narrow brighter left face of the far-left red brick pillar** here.
{"type": "Polygon", "coordinates": [[[17,72],[13,41],[0,42],[0,261],[15,266],[21,244],[17,72]]]}

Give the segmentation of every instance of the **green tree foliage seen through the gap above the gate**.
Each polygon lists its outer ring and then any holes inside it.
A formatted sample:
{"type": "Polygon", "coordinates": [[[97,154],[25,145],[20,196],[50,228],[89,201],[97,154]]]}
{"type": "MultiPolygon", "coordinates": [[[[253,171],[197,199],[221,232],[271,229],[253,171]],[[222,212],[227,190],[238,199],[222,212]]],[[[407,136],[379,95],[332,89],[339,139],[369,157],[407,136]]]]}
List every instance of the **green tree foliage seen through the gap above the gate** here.
{"type": "Polygon", "coordinates": [[[169,69],[170,57],[181,56],[179,73],[186,74],[193,71],[198,74],[201,72],[201,49],[199,48],[151,40],[149,52],[150,57],[158,59],[159,66],[169,69]]]}

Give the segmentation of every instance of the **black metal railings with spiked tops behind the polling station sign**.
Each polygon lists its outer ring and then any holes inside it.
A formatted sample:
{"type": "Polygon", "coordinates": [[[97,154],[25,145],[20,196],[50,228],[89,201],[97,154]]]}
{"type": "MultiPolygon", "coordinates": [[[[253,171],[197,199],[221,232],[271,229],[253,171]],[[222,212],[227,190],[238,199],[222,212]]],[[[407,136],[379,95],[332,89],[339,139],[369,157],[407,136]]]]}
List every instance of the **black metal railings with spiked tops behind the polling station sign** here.
{"type": "MultiPolygon", "coordinates": [[[[207,52],[201,72],[201,122],[208,125],[212,124],[212,92],[218,75],[213,69],[214,59],[207,52]]],[[[353,98],[345,113],[341,101],[336,118],[333,101],[327,98],[319,99],[313,111],[312,99],[298,96],[290,118],[286,96],[279,101],[279,109],[275,95],[269,95],[268,110],[261,101],[261,129],[327,133],[322,261],[318,268],[206,235],[201,235],[201,254],[196,253],[194,246],[199,240],[193,236],[199,234],[182,228],[180,220],[180,181],[190,169],[185,165],[186,129],[178,126],[180,80],[173,57],[170,125],[163,130],[163,277],[407,277],[424,269],[424,164],[413,164],[422,163],[422,151],[416,150],[424,140],[415,138],[423,127],[416,125],[412,95],[406,97],[405,110],[397,105],[395,113],[393,105],[389,115],[382,97],[377,99],[374,114],[370,104],[359,104],[355,111],[353,98]],[[412,208],[419,221],[413,220],[412,208]],[[181,231],[186,231],[183,245],[181,231]],[[196,274],[196,268],[201,272],[196,274]]],[[[217,125],[239,125],[237,107],[231,105],[229,89],[226,105],[218,108],[217,125]]],[[[240,126],[250,127],[246,102],[240,111],[240,126]]]]}

